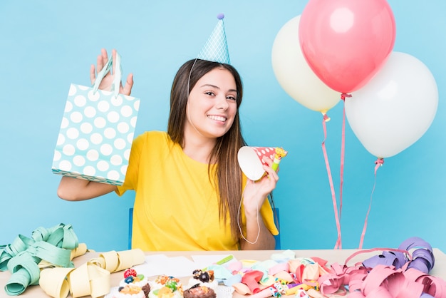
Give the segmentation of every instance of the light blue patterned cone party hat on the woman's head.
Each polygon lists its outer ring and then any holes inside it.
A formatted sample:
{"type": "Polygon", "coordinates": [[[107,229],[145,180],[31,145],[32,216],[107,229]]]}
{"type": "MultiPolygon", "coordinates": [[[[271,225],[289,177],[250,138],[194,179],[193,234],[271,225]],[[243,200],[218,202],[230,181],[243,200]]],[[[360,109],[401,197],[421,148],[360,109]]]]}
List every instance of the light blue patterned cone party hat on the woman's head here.
{"type": "Polygon", "coordinates": [[[199,52],[197,58],[230,64],[223,18],[224,14],[219,14],[217,16],[217,25],[215,26],[214,31],[212,31],[211,36],[207,39],[207,42],[204,44],[202,51],[199,52]]]}

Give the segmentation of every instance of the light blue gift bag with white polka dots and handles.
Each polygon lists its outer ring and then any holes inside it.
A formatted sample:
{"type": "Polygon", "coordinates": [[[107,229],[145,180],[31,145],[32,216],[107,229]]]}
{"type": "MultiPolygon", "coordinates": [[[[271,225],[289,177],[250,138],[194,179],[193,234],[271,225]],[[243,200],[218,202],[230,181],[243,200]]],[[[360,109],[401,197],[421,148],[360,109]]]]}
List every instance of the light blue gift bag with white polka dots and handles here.
{"type": "Polygon", "coordinates": [[[128,167],[140,99],[119,94],[116,53],[112,91],[99,90],[112,58],[93,87],[71,84],[53,157],[53,173],[122,185],[128,167]]]}

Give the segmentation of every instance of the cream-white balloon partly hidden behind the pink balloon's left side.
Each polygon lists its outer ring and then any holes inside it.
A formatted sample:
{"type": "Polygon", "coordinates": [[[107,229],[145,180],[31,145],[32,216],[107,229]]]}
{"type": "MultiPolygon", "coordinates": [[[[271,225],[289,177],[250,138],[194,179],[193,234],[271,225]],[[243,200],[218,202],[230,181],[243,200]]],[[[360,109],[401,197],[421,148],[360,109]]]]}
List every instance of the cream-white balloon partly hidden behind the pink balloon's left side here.
{"type": "Polygon", "coordinates": [[[279,30],[274,39],[271,60],[280,86],[302,106],[313,111],[326,111],[336,106],[341,93],[326,86],[311,70],[299,44],[299,21],[293,19],[279,30]]]}

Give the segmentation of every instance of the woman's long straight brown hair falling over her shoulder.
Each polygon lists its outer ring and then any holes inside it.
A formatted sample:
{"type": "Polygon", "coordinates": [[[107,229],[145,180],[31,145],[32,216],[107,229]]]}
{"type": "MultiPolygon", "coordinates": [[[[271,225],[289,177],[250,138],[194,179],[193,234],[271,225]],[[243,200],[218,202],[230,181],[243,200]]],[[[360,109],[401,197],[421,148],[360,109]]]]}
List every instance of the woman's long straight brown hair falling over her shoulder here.
{"type": "Polygon", "coordinates": [[[239,106],[242,103],[243,86],[242,79],[237,70],[224,63],[217,63],[205,61],[201,59],[192,59],[184,63],[178,70],[172,89],[170,91],[170,115],[167,124],[167,133],[174,143],[180,144],[184,147],[184,129],[186,122],[186,105],[187,98],[194,88],[197,81],[206,73],[215,68],[226,69],[232,76],[237,87],[237,113],[228,132],[217,138],[217,143],[209,156],[210,160],[217,160],[216,164],[209,162],[209,180],[217,183],[217,191],[219,194],[219,218],[223,219],[223,223],[227,225],[227,215],[229,213],[229,220],[231,232],[234,240],[238,240],[239,220],[237,212],[239,209],[239,202],[242,199],[242,171],[237,163],[237,153],[239,148],[246,145],[242,136],[242,128],[239,120],[239,106]],[[217,167],[215,177],[211,177],[212,167],[217,167]]]}

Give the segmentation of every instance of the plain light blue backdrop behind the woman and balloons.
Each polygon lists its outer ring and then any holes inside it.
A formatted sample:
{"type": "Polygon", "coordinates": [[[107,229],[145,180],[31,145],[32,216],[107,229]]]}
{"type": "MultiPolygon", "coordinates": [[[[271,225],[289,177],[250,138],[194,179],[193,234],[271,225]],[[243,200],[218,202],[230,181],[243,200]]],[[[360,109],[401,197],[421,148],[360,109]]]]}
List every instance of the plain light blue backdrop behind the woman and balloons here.
{"type": "MultiPolygon", "coordinates": [[[[123,72],[133,72],[141,98],[136,133],[165,130],[177,68],[195,58],[225,14],[232,64],[245,88],[241,108],[250,145],[282,146],[274,192],[282,248],[331,249],[336,242],[331,190],[321,143],[322,117],[279,85],[271,47],[307,1],[21,1],[0,3],[0,245],[36,227],[73,225],[94,250],[125,250],[133,193],[66,202],[56,195],[53,149],[70,83],[88,85],[100,48],[116,48],[123,72]]],[[[418,236],[446,251],[445,69],[446,2],[390,0],[396,21],[394,51],[415,56],[435,76],[437,115],[410,148],[378,170],[364,247],[398,247],[418,236]]],[[[342,51],[342,49],[339,49],[342,51]]],[[[422,101],[422,98],[420,98],[422,101]]],[[[343,103],[329,112],[326,147],[339,199],[343,103]]],[[[378,115],[377,115],[378,116],[378,115]]],[[[356,248],[375,183],[375,157],[346,124],[343,247],[356,248]]]]}

